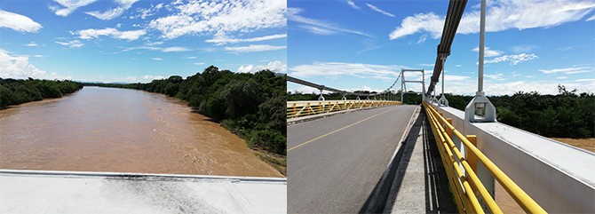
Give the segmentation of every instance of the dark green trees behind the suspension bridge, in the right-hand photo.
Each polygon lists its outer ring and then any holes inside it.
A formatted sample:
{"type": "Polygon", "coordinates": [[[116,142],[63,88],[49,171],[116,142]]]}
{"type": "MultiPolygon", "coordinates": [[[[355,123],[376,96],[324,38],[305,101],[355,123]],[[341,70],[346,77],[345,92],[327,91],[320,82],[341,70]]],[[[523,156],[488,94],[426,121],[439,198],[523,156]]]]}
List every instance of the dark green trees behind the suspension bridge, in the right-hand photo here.
{"type": "MultiPolygon", "coordinates": [[[[595,137],[595,94],[567,91],[559,85],[558,95],[541,95],[536,91],[519,91],[512,96],[490,96],[496,107],[497,120],[525,131],[550,138],[595,137]]],[[[401,97],[397,94],[398,98],[401,97]]],[[[318,99],[317,94],[289,93],[288,100],[318,99]]],[[[472,96],[445,94],[450,107],[464,110],[472,96]]],[[[325,99],[340,99],[329,94],[325,99]]],[[[405,94],[405,103],[419,104],[421,95],[405,94]]],[[[350,99],[350,98],[348,98],[350,99]]]]}

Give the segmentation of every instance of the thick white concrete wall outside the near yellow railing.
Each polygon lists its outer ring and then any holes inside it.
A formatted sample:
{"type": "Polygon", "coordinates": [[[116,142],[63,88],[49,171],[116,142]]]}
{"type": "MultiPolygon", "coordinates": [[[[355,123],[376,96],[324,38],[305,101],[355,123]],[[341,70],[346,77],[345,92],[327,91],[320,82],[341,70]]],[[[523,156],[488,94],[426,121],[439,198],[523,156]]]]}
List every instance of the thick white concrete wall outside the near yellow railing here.
{"type": "MultiPolygon", "coordinates": [[[[464,112],[437,107],[456,130],[548,212],[595,213],[595,154],[504,123],[464,123],[464,112]]],[[[497,195],[496,195],[497,197],[497,195]]]]}

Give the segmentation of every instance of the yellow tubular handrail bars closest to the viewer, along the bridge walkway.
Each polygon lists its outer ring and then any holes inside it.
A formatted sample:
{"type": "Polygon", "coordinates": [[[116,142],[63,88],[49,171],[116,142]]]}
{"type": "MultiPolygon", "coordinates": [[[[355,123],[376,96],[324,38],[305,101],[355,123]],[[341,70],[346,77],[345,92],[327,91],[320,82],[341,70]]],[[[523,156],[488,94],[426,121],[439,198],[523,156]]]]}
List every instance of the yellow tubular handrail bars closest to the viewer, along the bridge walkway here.
{"type": "MultiPolygon", "coordinates": [[[[427,102],[424,102],[424,107],[426,109],[426,113],[428,113],[428,117],[430,118],[431,124],[432,124],[432,131],[435,131],[435,133],[438,133],[438,137],[436,138],[436,143],[439,144],[440,143],[443,144],[443,148],[446,149],[446,152],[448,153],[448,155],[451,157],[451,161],[455,161],[453,160],[453,156],[452,153],[454,151],[457,159],[459,160],[459,162],[463,165],[464,170],[467,172],[467,176],[463,176],[462,174],[458,173],[460,170],[460,168],[458,167],[458,165],[456,165],[456,162],[453,162],[453,165],[456,168],[456,172],[458,174],[458,180],[463,184],[463,186],[465,187],[465,192],[467,191],[467,188],[465,186],[465,184],[467,184],[467,178],[470,178],[472,180],[472,184],[477,188],[477,190],[480,192],[481,197],[486,201],[487,205],[488,205],[488,209],[492,212],[492,213],[502,213],[502,210],[500,210],[496,204],[496,202],[494,202],[494,199],[491,197],[490,194],[488,194],[487,189],[483,186],[483,184],[480,182],[480,179],[477,177],[477,175],[475,174],[475,171],[472,170],[472,167],[470,166],[469,162],[467,162],[467,158],[465,158],[460,151],[456,148],[455,144],[453,143],[451,136],[452,134],[455,134],[456,137],[458,139],[461,140],[461,142],[464,144],[464,146],[472,152],[472,155],[474,155],[475,157],[477,157],[477,159],[485,166],[485,168],[489,171],[490,174],[492,174],[492,176],[494,178],[496,178],[496,180],[504,187],[504,189],[506,190],[506,192],[508,192],[508,194],[510,194],[512,196],[512,198],[520,205],[520,207],[525,210],[528,213],[546,213],[545,210],[543,210],[543,208],[537,204],[537,202],[535,202],[527,193],[525,193],[525,191],[523,191],[520,186],[518,186],[516,183],[514,183],[514,181],[512,181],[511,178],[509,178],[504,171],[500,170],[500,168],[498,168],[496,166],[496,164],[492,161],[489,160],[489,158],[484,155],[480,149],[478,149],[477,147],[475,147],[472,142],[467,139],[468,137],[465,137],[460,131],[457,131],[455,129],[455,127],[450,124],[448,122],[447,119],[445,119],[442,115],[440,115],[440,113],[438,112],[438,110],[436,110],[434,107],[432,107],[432,105],[429,105],[427,102]],[[443,126],[445,126],[446,128],[444,128],[443,126]],[[451,134],[448,134],[448,132],[451,132],[451,134]],[[441,142],[439,142],[438,140],[441,140],[441,142]],[[446,145],[444,145],[446,144],[446,145]],[[453,151],[450,151],[453,150],[453,151]]],[[[474,136],[472,137],[474,138],[474,136]]],[[[442,147],[439,147],[440,149],[442,147]]],[[[440,156],[443,156],[444,152],[442,152],[442,150],[440,150],[440,156]]],[[[447,167],[447,162],[444,162],[444,157],[443,157],[443,163],[445,164],[446,168],[447,167]]],[[[448,171],[447,173],[450,174],[449,177],[452,178],[452,171],[448,171]]],[[[454,179],[456,180],[456,178],[454,179]]],[[[451,185],[453,185],[451,183],[451,185]]],[[[456,186],[456,185],[455,185],[456,186]]],[[[460,188],[460,186],[458,186],[457,188],[460,188]]],[[[457,196],[468,196],[468,197],[475,197],[474,194],[469,194],[469,193],[465,193],[467,195],[457,195],[457,196]]],[[[483,210],[477,210],[477,198],[469,198],[468,200],[471,200],[472,202],[472,208],[473,210],[471,210],[472,212],[478,212],[481,213],[483,212],[483,210]]],[[[462,203],[465,203],[465,201],[462,201],[462,203]]],[[[458,205],[459,202],[457,201],[458,205]]],[[[467,208],[468,205],[464,205],[464,208],[467,208]]],[[[459,208],[461,209],[461,208],[459,208]]]]}

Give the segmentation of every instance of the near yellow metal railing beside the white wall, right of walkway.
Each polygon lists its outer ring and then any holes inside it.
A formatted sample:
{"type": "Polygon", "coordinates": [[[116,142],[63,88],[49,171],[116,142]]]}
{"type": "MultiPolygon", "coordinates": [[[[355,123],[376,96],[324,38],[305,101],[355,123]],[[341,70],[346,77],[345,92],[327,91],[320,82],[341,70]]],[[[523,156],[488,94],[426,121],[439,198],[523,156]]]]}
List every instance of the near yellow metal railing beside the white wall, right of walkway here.
{"type": "Polygon", "coordinates": [[[480,149],[476,147],[477,138],[475,136],[461,134],[451,124],[452,120],[450,118],[445,119],[436,108],[427,102],[424,102],[424,107],[440,151],[440,158],[447,172],[450,191],[454,194],[460,213],[485,213],[480,205],[480,199],[485,202],[489,212],[503,213],[494,198],[488,193],[486,187],[481,183],[480,178],[477,177],[477,162],[481,162],[486,167],[525,212],[546,213],[511,178],[508,178],[494,162],[491,162],[486,155],[481,153],[480,149]],[[453,134],[464,144],[467,151],[466,157],[455,146],[453,134]],[[461,169],[461,166],[463,169],[461,169]]]}

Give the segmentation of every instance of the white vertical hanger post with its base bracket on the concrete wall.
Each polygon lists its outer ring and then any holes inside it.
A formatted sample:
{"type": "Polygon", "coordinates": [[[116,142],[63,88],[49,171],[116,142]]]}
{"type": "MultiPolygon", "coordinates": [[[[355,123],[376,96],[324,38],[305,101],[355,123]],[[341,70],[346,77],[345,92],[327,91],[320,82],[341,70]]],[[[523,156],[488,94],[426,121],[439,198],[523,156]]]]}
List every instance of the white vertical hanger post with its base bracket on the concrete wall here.
{"type": "Polygon", "coordinates": [[[480,14],[480,61],[478,63],[478,83],[475,97],[464,108],[464,121],[470,123],[496,122],[496,107],[483,92],[483,55],[486,41],[486,0],[481,0],[480,14]],[[480,115],[480,116],[477,116],[480,115]]]}

